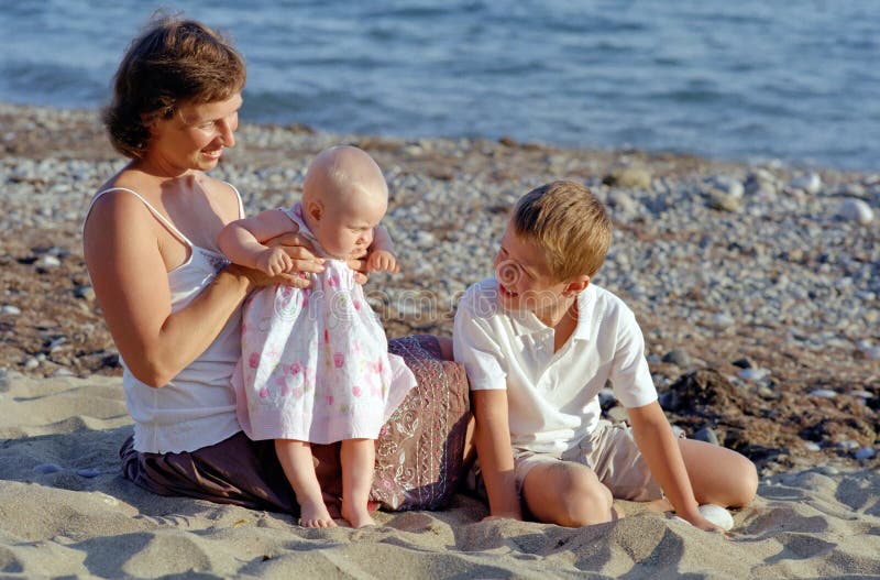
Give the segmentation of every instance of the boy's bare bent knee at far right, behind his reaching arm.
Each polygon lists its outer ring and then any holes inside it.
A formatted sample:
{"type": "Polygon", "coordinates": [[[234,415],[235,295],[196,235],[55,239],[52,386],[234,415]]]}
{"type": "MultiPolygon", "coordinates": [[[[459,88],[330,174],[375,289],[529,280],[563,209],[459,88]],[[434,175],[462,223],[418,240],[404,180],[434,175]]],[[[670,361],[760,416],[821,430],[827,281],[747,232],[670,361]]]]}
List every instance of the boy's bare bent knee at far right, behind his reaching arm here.
{"type": "Polygon", "coordinates": [[[743,507],[755,499],[758,472],[746,457],[693,439],[680,439],[679,447],[698,504],[743,507]]]}

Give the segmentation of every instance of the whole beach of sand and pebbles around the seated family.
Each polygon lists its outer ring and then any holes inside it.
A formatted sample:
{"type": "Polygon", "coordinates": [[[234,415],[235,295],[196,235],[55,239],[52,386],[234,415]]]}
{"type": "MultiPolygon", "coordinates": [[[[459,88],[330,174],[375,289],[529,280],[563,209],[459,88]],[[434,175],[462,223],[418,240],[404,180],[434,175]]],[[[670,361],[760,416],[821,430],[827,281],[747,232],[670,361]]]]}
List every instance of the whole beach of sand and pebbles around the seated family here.
{"type": "MultiPolygon", "coordinates": [[[[318,530],[120,475],[131,419],[79,225],[121,162],[94,111],[2,105],[0,124],[0,577],[880,577],[878,175],[243,125],[218,175],[249,211],[298,195],[331,143],[385,169],[403,272],[370,284],[389,337],[449,335],[510,201],[553,177],[588,183],[619,248],[600,283],[636,311],[670,419],[761,474],[726,536],[629,502],[626,517],[582,529],[481,522],[486,506],[465,493],[442,511],[380,512],[374,528],[318,530]]],[[[619,417],[614,401],[603,408],[619,417]]]]}

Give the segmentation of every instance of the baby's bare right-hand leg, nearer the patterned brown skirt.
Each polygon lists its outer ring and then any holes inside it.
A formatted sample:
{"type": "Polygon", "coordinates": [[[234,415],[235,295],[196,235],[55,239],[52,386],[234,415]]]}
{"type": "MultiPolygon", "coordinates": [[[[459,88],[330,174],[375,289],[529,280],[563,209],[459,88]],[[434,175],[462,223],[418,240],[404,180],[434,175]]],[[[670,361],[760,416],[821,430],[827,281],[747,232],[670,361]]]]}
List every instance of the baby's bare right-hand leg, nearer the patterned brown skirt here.
{"type": "Polygon", "coordinates": [[[376,523],[366,508],[376,445],[373,439],[345,439],[340,451],[342,463],[342,517],[351,527],[374,526],[376,523]]]}

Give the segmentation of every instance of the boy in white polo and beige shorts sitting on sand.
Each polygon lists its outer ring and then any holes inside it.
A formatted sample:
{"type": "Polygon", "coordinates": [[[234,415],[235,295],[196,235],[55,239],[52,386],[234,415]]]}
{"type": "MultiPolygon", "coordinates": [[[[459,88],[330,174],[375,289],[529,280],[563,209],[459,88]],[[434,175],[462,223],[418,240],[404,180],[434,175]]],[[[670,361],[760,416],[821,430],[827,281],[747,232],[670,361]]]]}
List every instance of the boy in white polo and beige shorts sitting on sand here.
{"type": "Polygon", "coordinates": [[[455,314],[455,360],[471,382],[477,472],[490,517],[583,526],[608,522],[614,497],[666,494],[676,514],[714,529],[698,505],[743,506],[755,466],[739,453],[676,439],[657,402],[632,311],[596,285],[612,238],[602,204],[553,182],[516,205],[496,277],[471,286],[455,314]],[[625,426],[601,419],[610,381],[625,426]]]}

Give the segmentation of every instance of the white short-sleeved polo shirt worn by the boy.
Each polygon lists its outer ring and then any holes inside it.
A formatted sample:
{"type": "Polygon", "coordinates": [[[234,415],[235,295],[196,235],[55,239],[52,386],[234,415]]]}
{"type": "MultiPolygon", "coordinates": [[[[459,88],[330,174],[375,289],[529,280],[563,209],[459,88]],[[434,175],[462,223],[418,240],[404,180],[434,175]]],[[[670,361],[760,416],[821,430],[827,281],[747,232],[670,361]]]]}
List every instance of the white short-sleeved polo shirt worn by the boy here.
{"type": "Polygon", "coordinates": [[[472,390],[507,390],[517,448],[559,456],[576,445],[598,424],[606,381],[627,408],[657,400],[632,310],[595,284],[579,294],[578,326],[556,353],[553,329],[531,313],[504,310],[494,277],[464,293],[452,339],[472,390]]]}

